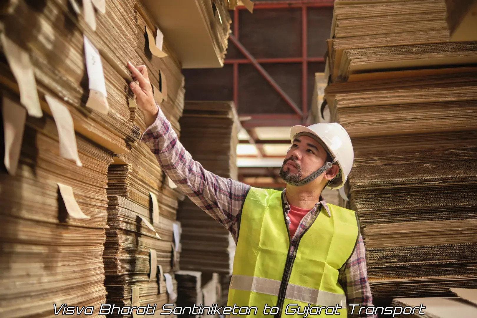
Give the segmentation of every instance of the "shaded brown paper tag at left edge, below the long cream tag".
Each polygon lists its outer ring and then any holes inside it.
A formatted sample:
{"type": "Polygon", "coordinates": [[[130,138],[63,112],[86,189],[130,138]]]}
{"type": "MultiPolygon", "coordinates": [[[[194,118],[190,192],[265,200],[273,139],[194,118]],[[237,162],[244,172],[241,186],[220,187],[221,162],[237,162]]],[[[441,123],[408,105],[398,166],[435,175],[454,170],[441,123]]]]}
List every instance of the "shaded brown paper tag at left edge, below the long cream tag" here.
{"type": "Polygon", "coordinates": [[[15,175],[21,153],[23,133],[27,110],[3,95],[3,138],[5,142],[5,158],[3,163],[10,175],[15,175]]]}

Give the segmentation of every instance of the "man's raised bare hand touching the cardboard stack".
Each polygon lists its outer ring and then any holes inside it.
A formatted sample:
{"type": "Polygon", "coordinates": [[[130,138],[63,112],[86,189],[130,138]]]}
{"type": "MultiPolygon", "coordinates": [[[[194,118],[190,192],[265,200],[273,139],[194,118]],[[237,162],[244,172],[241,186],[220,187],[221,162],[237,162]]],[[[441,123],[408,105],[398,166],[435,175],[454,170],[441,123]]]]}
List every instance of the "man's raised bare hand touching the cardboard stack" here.
{"type": "Polygon", "coordinates": [[[129,87],[136,96],[137,107],[144,113],[146,127],[149,127],[157,117],[157,105],[154,101],[151,83],[147,76],[147,68],[145,65],[134,67],[131,62],[127,63],[127,68],[132,73],[133,80],[129,87]]]}

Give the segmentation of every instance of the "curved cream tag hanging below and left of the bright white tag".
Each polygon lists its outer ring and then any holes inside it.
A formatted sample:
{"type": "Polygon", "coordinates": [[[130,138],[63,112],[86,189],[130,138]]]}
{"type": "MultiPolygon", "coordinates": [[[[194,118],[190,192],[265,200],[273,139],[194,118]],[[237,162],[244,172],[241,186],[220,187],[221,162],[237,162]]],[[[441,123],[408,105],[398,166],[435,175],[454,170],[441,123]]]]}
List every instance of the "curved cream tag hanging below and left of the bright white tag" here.
{"type": "Polygon", "coordinates": [[[68,108],[59,100],[51,96],[45,95],[45,100],[52,110],[53,119],[58,129],[58,137],[60,139],[60,155],[63,158],[76,162],[81,167],[78,147],[76,145],[76,135],[74,134],[73,118],[68,108]]]}

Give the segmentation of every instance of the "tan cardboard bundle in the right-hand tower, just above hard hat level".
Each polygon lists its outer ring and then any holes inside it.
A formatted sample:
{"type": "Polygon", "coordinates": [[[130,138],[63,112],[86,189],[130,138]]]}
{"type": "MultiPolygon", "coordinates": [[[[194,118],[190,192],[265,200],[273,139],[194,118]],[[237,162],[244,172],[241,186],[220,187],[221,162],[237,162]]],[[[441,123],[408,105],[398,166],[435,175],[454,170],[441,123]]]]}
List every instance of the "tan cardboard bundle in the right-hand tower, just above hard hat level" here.
{"type": "Polygon", "coordinates": [[[477,68],[466,70],[330,85],[332,120],[352,137],[476,130],[477,68]]]}

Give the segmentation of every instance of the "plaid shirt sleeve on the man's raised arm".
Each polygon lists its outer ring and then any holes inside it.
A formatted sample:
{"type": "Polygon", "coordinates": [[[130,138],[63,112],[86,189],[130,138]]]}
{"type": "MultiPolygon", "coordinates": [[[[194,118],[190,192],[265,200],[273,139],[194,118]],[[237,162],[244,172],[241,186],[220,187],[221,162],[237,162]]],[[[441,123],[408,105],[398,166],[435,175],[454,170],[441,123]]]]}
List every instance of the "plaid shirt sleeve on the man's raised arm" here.
{"type": "Polygon", "coordinates": [[[149,146],[177,187],[235,238],[237,220],[249,185],[213,174],[193,160],[160,107],[158,109],[156,121],[145,130],[140,142],[149,146]]]}

